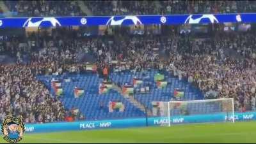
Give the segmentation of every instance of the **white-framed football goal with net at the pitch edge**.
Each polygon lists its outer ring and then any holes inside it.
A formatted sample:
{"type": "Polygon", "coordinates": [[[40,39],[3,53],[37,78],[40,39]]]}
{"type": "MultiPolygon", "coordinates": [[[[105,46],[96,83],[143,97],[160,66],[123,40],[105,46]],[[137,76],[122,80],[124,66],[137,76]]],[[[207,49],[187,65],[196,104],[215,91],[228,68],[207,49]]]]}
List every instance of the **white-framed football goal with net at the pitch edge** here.
{"type": "Polygon", "coordinates": [[[157,102],[157,115],[164,121],[161,124],[162,126],[186,123],[235,122],[234,99],[159,101],[157,102]]]}

